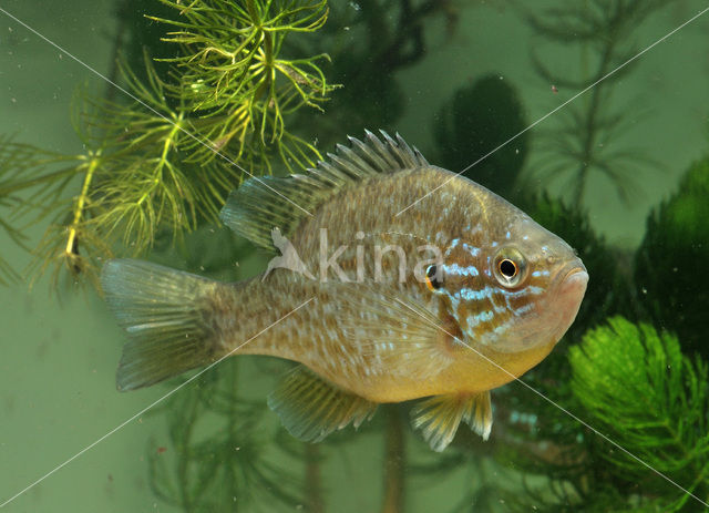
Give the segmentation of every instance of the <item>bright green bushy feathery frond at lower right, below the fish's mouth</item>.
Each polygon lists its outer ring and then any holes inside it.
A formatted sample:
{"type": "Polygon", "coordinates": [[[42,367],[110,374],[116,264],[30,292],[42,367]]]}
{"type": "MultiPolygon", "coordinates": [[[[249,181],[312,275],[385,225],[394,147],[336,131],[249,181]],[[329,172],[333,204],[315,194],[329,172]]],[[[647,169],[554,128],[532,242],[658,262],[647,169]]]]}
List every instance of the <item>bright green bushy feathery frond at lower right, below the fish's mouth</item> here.
{"type": "Polygon", "coordinates": [[[674,335],[614,317],[569,352],[574,394],[589,422],[629,453],[607,447],[609,474],[637,483],[636,493],[661,511],[695,511],[698,503],[653,472],[709,496],[709,368],[684,356],[674,335]],[[649,468],[648,468],[649,466],[649,468]],[[660,495],[656,499],[654,495],[660,495]]]}

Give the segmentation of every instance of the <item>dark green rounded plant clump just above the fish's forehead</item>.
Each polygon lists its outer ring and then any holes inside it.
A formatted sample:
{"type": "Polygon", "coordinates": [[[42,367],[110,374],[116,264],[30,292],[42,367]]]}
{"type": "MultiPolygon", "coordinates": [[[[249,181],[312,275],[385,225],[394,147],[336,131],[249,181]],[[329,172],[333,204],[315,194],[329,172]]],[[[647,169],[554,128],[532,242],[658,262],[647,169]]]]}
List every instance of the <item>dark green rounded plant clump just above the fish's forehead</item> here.
{"type": "Polygon", "coordinates": [[[514,86],[500,74],[482,76],[455,91],[439,110],[434,162],[454,173],[466,170],[464,176],[515,201],[521,196],[516,186],[527,154],[527,135],[487,154],[527,124],[514,86]]]}

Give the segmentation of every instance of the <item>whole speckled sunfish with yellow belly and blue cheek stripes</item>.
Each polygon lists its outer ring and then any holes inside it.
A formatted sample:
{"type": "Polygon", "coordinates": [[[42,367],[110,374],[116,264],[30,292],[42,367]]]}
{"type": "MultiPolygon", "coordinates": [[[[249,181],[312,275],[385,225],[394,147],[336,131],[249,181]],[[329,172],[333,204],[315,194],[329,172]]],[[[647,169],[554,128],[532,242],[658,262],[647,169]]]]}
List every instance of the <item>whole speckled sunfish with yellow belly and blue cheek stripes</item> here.
{"type": "Polygon", "coordinates": [[[219,283],[104,265],[105,301],[129,338],[117,389],[230,356],[291,360],[267,403],[310,442],[404,401],[417,401],[412,424],[434,451],[462,422],[487,440],[490,391],[552,351],[588,281],[559,237],[383,131],[302,174],[245,181],[219,217],[276,255],[267,271],[219,283]]]}

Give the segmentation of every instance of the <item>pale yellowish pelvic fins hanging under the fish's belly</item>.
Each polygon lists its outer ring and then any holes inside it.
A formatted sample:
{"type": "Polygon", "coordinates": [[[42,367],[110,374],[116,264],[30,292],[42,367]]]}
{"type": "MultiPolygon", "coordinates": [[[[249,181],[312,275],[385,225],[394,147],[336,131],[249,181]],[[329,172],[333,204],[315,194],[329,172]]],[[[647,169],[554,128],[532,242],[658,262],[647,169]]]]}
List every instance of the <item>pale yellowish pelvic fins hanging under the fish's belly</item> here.
{"type": "Polygon", "coordinates": [[[492,428],[490,391],[435,396],[419,403],[412,415],[413,427],[422,431],[431,449],[438,452],[453,441],[461,420],[487,440],[492,428]]]}

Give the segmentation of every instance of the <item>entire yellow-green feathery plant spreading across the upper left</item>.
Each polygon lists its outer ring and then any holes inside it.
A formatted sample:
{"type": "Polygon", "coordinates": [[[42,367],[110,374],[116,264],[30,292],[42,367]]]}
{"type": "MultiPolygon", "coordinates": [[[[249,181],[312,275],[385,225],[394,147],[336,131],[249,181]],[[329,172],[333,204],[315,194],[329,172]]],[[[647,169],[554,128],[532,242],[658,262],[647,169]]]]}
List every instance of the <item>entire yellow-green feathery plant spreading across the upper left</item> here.
{"type": "MultiPolygon", "coordinates": [[[[20,213],[50,222],[35,275],[95,279],[116,243],[135,256],[158,236],[175,240],[216,222],[226,194],[245,174],[270,173],[274,155],[290,171],[320,158],[288,126],[332,91],[318,66],[327,55],[285,53],[289,34],[322,27],[323,0],[161,2],[175,10],[175,19],[155,18],[176,29],[165,37],[179,49],[165,59],[171,73],[160,76],[146,57],[145,79],[120,65],[132,101],[80,94],[73,117],[84,153],[27,158],[43,154],[0,141],[0,208],[21,206],[0,226],[20,242],[20,213]]],[[[0,261],[7,280],[14,271],[0,261]]]]}

